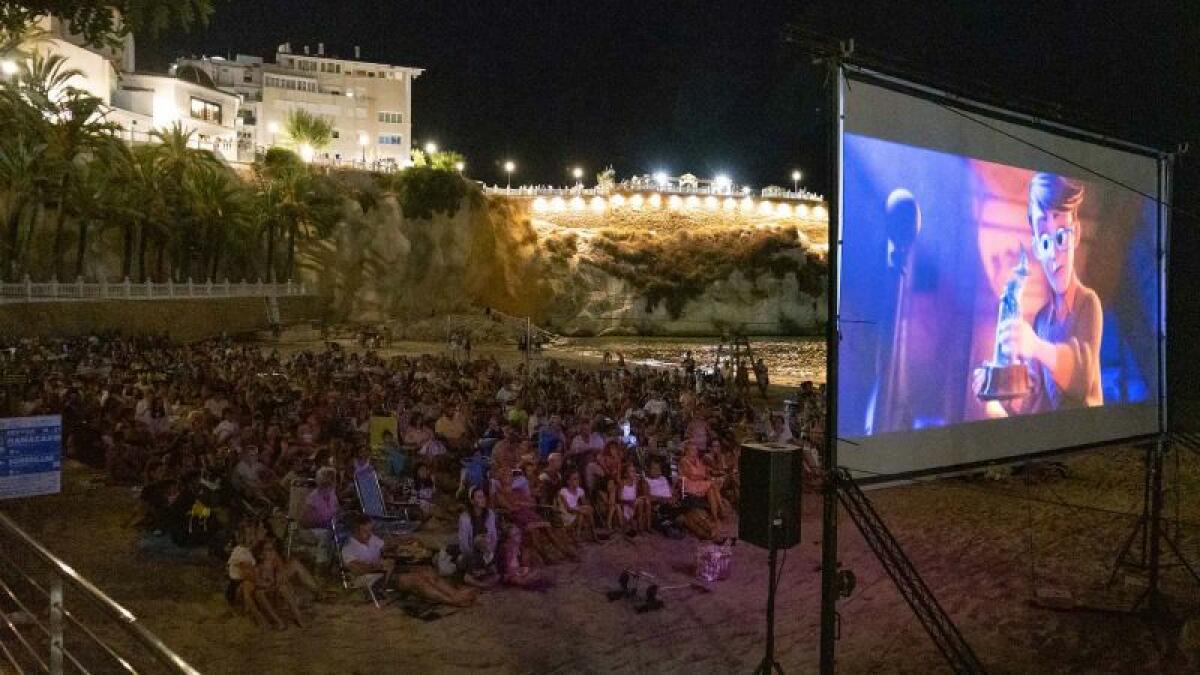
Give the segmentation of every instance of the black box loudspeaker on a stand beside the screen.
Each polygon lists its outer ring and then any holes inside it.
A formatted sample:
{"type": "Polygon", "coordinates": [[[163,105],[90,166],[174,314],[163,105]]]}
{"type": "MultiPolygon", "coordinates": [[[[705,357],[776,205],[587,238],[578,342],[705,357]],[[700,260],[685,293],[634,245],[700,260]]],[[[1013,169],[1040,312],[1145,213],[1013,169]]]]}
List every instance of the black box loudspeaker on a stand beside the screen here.
{"type": "Polygon", "coordinates": [[[742,489],[738,504],[738,538],[756,546],[775,548],[800,543],[800,449],[775,443],[742,446],[742,489]]]}

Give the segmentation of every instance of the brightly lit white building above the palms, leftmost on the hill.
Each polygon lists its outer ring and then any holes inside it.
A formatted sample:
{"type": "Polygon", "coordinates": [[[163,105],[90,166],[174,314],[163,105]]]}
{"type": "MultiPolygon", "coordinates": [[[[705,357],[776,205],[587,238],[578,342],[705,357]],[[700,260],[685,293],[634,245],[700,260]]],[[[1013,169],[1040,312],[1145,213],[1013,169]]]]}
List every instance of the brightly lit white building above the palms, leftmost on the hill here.
{"type": "Polygon", "coordinates": [[[97,48],[84,44],[56,17],[41,18],[37,28],[44,36],[22,49],[64,56],[66,67],[80,73],[67,85],[102,100],[108,106],[107,119],[121,126],[126,141],[145,143],[151,141],[151,131],[180,123],[193,132],[198,148],[210,149],[227,161],[238,159],[238,96],[196,79],[136,72],[132,35],[120,47],[97,48]]]}

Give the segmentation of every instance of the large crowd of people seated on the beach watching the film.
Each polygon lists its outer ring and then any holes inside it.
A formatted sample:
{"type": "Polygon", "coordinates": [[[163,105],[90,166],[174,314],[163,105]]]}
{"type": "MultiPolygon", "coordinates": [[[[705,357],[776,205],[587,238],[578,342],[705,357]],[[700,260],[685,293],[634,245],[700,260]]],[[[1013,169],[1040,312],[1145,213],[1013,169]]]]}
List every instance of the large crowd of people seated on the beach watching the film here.
{"type": "Polygon", "coordinates": [[[539,567],[577,560],[588,542],[713,538],[737,508],[742,443],[822,432],[818,388],[772,413],[745,377],[691,354],[678,369],[506,369],[469,353],[0,339],[0,417],[61,414],[68,456],[139,489],[144,513],[131,522],[228,560],[229,601],[277,627],[304,625],[298,593],[323,597],[317,577],[332,566],[466,605],[482,587],[536,584],[539,567]],[[379,417],[391,424],[372,447],[379,417]],[[388,537],[356,513],[364,471],[389,501],[415,504],[416,520],[456,521],[457,537],[442,551],[388,537]],[[281,514],[290,526],[272,521],[281,514]],[[331,560],[313,556],[317,577],[288,555],[293,536],[332,548],[331,560]]]}

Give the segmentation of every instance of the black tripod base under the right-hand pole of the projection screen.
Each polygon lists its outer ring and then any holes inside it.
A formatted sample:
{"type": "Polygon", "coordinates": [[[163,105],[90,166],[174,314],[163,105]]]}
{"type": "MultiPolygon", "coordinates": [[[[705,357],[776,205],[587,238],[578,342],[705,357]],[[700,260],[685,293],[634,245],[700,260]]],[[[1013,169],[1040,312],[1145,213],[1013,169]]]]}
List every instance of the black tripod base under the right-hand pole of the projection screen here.
{"type": "Polygon", "coordinates": [[[1142,603],[1146,603],[1150,614],[1158,614],[1163,609],[1163,597],[1158,590],[1163,543],[1171,550],[1178,563],[1192,574],[1192,579],[1200,584],[1200,573],[1180,551],[1180,544],[1175,536],[1163,528],[1163,455],[1170,452],[1170,444],[1171,441],[1166,435],[1160,435],[1153,443],[1146,444],[1146,479],[1142,488],[1141,515],[1121,545],[1116,563],[1112,566],[1112,574],[1109,577],[1111,586],[1116,583],[1122,568],[1146,572],[1146,590],[1134,601],[1130,611],[1138,611],[1142,603]]]}

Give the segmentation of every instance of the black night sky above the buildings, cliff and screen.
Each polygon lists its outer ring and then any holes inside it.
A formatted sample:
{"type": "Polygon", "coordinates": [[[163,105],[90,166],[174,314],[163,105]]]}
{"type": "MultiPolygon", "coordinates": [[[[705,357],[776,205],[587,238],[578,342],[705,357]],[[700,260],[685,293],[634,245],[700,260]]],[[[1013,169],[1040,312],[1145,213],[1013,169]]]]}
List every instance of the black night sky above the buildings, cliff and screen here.
{"type": "MultiPolygon", "coordinates": [[[[184,54],[325,42],[326,53],[418,66],[414,141],[467,156],[468,174],[569,181],[726,172],[756,187],[793,168],[826,191],[823,72],[787,44],[788,23],[854,37],[858,49],[940,84],[1049,109],[1082,127],[1180,157],[1172,232],[1172,342],[1200,339],[1200,2],[380,2],[215,0],[206,29],[140,40],[139,68],[184,54]],[[1190,318],[1189,318],[1190,317],[1190,318]]],[[[1187,384],[1200,398],[1200,366],[1187,384]]]]}

